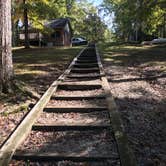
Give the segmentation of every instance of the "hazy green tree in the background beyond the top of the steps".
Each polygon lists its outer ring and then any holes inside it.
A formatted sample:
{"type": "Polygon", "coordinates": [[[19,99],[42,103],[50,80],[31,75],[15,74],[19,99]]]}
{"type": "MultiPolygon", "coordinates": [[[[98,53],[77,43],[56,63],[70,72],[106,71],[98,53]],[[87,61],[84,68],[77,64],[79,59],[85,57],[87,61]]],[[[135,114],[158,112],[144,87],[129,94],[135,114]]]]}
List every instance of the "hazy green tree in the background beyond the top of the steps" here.
{"type": "Polygon", "coordinates": [[[82,36],[89,41],[98,41],[105,37],[106,25],[98,16],[97,8],[88,1],[72,1],[70,21],[75,36],[82,36]]]}

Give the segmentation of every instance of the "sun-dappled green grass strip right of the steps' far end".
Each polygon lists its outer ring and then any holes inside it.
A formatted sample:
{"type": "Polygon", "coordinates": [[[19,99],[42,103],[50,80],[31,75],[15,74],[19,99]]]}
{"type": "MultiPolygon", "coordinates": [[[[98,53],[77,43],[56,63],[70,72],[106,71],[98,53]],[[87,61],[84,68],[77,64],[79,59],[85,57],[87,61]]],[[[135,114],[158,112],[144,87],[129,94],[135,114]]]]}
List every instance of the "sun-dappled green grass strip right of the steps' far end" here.
{"type": "Polygon", "coordinates": [[[100,44],[105,61],[117,66],[155,67],[166,72],[166,45],[100,44]]]}

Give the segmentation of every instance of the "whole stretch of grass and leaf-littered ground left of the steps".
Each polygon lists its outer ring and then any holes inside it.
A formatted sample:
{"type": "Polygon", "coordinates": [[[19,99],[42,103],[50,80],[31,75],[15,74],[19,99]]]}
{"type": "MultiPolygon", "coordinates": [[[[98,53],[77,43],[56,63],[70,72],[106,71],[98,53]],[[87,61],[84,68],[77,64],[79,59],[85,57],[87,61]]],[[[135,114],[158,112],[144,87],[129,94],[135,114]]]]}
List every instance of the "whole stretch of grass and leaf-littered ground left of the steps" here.
{"type": "Polygon", "coordinates": [[[13,49],[14,73],[20,89],[10,95],[0,94],[0,145],[81,49],[13,49]]]}

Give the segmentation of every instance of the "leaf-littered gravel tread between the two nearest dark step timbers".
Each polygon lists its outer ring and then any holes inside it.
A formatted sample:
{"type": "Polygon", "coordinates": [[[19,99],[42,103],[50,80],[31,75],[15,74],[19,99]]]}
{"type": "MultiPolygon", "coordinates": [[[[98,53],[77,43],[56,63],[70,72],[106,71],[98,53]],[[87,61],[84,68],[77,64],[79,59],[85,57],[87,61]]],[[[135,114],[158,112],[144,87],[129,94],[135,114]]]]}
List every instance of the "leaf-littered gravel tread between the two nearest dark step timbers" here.
{"type": "Polygon", "coordinates": [[[102,131],[32,131],[18,152],[52,152],[61,156],[103,156],[118,158],[114,138],[102,131]],[[36,139],[37,138],[37,139],[36,139]],[[67,141],[66,141],[67,140],[67,141]],[[109,146],[108,146],[109,145],[109,146]]]}

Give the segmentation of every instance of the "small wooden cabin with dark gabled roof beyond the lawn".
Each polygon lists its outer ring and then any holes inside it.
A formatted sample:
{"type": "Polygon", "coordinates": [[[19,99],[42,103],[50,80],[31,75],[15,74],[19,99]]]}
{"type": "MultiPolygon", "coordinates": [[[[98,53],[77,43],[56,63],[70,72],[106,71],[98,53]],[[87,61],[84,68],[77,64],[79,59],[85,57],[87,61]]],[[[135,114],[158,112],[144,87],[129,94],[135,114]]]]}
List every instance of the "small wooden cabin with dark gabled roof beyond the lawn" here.
{"type": "MultiPolygon", "coordinates": [[[[29,27],[29,42],[31,45],[40,46],[71,46],[72,28],[69,19],[59,18],[45,23],[45,28],[51,29],[50,33],[42,33],[29,27]]],[[[24,43],[24,30],[19,34],[20,43],[24,43]]]]}

